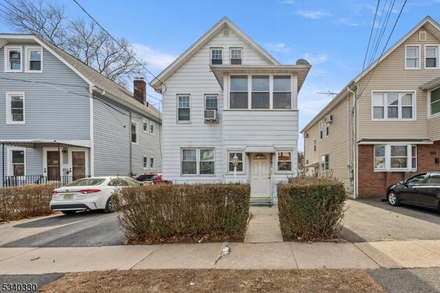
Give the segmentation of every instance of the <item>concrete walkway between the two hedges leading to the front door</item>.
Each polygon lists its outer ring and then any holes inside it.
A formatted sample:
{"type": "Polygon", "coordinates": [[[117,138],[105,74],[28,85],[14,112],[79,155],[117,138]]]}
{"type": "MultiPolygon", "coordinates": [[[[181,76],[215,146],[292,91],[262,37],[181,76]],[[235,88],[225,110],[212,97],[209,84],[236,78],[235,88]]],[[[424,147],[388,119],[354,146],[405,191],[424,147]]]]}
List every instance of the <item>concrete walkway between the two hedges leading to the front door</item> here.
{"type": "Polygon", "coordinates": [[[252,217],[245,234],[246,243],[283,242],[278,206],[251,206],[252,217]]]}

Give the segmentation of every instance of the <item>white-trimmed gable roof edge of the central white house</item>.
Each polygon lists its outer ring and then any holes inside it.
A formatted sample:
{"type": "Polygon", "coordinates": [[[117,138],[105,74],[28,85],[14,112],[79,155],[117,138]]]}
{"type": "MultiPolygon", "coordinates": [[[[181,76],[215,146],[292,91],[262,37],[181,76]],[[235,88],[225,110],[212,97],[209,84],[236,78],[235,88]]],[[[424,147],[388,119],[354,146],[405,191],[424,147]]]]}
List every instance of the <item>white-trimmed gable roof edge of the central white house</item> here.
{"type": "Polygon", "coordinates": [[[173,63],[168,65],[156,78],[153,78],[149,85],[155,89],[155,91],[162,91],[162,82],[172,76],[177,69],[186,63],[192,56],[194,56],[199,50],[211,41],[214,36],[217,36],[221,30],[228,28],[237,34],[247,45],[252,47],[261,57],[272,65],[280,65],[276,59],[270,55],[266,50],[258,43],[252,40],[247,34],[245,34],[239,27],[237,27],[228,17],[223,17],[218,23],[216,23],[208,32],[203,34],[194,44],[191,45],[183,54],[181,54],[173,63]]]}

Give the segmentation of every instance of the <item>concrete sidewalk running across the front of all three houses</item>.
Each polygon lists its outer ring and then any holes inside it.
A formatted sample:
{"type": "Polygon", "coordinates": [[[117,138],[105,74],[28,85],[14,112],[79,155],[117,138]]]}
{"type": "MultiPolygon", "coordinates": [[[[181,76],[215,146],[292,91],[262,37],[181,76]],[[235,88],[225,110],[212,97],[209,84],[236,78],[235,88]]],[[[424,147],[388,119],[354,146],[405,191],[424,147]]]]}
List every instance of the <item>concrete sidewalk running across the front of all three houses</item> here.
{"type": "Polygon", "coordinates": [[[364,243],[202,243],[94,248],[0,248],[0,274],[136,269],[440,267],[440,240],[364,243]],[[228,245],[230,254],[220,257],[228,245]]]}

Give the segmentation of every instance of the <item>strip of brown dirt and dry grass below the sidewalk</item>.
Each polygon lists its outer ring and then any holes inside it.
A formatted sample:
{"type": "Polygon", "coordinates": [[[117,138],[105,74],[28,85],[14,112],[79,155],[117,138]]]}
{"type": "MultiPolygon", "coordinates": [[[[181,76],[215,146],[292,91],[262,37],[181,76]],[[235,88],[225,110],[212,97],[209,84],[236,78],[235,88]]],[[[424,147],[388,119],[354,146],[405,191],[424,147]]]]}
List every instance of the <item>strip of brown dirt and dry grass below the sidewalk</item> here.
{"type": "Polygon", "coordinates": [[[362,270],[111,270],[70,273],[42,292],[384,292],[362,270]]]}

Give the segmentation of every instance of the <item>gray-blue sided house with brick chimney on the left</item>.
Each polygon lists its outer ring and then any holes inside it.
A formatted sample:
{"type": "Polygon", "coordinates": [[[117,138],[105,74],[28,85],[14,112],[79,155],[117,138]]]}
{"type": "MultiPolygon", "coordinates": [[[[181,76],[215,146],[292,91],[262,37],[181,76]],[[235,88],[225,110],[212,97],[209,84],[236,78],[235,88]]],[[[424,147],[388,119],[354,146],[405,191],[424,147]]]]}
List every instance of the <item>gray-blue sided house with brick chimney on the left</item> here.
{"type": "Polygon", "coordinates": [[[162,171],[159,111],[39,36],[0,34],[3,186],[162,171]]]}

